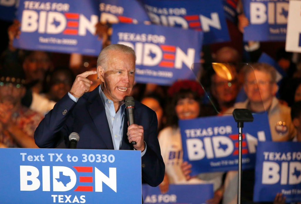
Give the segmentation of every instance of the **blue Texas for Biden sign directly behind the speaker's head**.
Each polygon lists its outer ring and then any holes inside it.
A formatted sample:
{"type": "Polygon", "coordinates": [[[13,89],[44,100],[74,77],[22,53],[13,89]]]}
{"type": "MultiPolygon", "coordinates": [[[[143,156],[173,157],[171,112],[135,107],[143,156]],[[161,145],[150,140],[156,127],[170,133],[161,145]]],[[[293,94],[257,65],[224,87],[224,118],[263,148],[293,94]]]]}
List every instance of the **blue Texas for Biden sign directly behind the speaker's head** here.
{"type": "Polygon", "coordinates": [[[195,79],[190,67],[200,61],[202,37],[202,32],[195,30],[113,24],[111,43],[125,44],[135,50],[135,81],[171,85],[178,79],[195,79]]]}

